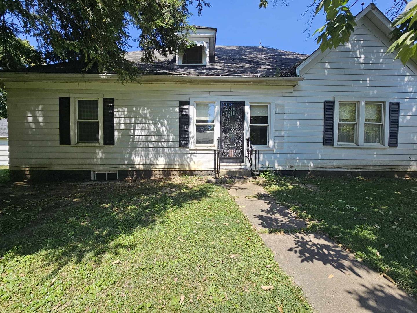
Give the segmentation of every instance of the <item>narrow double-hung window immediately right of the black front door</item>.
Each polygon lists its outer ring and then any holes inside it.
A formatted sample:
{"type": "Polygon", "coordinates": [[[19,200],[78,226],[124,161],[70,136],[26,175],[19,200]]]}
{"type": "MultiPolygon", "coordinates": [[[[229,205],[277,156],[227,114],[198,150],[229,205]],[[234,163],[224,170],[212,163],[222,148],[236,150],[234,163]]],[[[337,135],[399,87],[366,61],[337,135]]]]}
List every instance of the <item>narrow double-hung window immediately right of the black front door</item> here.
{"type": "Polygon", "coordinates": [[[269,105],[252,104],[249,123],[251,144],[267,146],[269,144],[269,105]]]}

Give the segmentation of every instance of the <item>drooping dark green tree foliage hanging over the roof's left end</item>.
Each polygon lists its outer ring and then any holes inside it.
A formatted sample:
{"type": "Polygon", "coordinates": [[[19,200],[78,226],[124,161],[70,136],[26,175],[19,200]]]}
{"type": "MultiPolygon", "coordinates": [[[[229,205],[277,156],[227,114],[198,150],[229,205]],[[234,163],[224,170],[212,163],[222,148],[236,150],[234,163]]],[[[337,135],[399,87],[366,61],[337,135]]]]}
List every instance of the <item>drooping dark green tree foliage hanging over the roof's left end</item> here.
{"type": "Polygon", "coordinates": [[[205,0],[3,0],[0,68],[18,68],[22,57],[28,65],[77,61],[84,71],[135,81],[138,71],[125,59],[129,30],[138,30],[133,39],[143,51],[142,61],[181,51],[188,40],[177,33],[193,30],[188,25],[193,4],[198,15],[210,6],[205,0]],[[27,36],[36,38],[37,50],[19,39],[27,36]]]}

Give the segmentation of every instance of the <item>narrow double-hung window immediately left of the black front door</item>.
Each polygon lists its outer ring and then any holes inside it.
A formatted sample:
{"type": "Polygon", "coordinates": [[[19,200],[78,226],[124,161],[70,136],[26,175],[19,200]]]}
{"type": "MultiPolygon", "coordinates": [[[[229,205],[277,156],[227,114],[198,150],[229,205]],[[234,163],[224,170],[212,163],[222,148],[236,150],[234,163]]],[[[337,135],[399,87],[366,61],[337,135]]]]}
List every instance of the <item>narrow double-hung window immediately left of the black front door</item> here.
{"type": "Polygon", "coordinates": [[[215,111],[216,103],[195,103],[194,134],[196,146],[211,146],[214,144],[215,111]]]}

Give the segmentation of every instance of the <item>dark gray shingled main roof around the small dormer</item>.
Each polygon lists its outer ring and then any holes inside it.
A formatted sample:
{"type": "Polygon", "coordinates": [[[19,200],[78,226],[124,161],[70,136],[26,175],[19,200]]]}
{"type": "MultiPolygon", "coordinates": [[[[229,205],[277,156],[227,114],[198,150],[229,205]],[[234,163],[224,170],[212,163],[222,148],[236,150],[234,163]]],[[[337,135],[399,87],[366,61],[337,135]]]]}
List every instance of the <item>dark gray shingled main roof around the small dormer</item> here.
{"type": "MultiPolygon", "coordinates": [[[[141,51],[129,52],[126,58],[144,74],[149,75],[199,75],[199,76],[276,76],[277,70],[294,68],[308,55],[266,47],[217,45],[216,55],[207,66],[177,65],[175,56],[157,56],[155,63],[141,63],[141,51]]],[[[25,72],[80,73],[78,63],[57,63],[25,68],[25,72]]],[[[88,73],[94,73],[89,71],[88,73]]]]}

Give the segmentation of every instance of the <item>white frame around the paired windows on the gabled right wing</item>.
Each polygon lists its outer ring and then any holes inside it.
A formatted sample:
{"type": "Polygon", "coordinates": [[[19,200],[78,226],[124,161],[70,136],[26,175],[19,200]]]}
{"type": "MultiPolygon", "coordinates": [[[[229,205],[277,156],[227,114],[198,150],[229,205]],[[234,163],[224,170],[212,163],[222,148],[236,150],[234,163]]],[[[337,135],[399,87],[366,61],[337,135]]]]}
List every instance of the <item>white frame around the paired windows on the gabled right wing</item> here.
{"type": "MultiPolygon", "coordinates": [[[[388,147],[389,131],[389,102],[387,98],[372,97],[335,97],[334,98],[334,133],[333,142],[335,147],[360,147],[360,148],[386,148],[388,147]],[[340,102],[357,102],[357,131],[355,143],[338,143],[337,134],[339,126],[339,103],[340,102]],[[381,143],[364,142],[364,125],[365,125],[365,103],[382,103],[382,138],[381,143]]],[[[345,123],[345,122],[341,122],[345,123]]],[[[371,123],[372,124],[372,123],[371,123]]]]}

